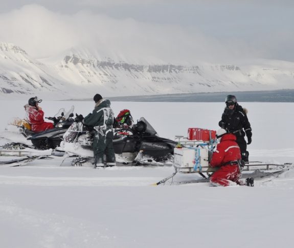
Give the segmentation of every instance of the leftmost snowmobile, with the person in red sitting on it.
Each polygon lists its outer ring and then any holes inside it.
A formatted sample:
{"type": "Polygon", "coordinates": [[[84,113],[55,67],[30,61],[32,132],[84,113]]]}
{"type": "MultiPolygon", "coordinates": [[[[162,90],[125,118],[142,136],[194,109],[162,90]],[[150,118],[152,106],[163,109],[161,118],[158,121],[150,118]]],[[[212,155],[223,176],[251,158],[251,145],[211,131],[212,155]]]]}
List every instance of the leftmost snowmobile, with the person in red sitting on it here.
{"type": "Polygon", "coordinates": [[[5,144],[2,149],[25,149],[35,148],[39,150],[54,149],[60,145],[63,134],[72,125],[74,119],[74,106],[65,113],[60,109],[54,117],[46,117],[54,122],[54,128],[42,132],[33,132],[25,120],[14,118],[6,132],[1,134],[10,143],[5,144]],[[28,126],[27,126],[28,125],[28,126]]]}

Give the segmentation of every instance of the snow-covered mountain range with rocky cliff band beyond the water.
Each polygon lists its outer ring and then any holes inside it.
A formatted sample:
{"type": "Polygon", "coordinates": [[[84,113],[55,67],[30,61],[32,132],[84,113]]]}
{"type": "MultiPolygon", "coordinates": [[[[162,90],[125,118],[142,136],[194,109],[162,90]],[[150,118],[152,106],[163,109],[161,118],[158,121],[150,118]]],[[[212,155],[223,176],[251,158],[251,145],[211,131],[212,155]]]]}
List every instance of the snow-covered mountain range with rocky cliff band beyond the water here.
{"type": "Polygon", "coordinates": [[[132,64],[85,51],[36,60],[0,43],[0,95],[82,98],[294,88],[294,63],[255,60],[242,64],[132,64]]]}

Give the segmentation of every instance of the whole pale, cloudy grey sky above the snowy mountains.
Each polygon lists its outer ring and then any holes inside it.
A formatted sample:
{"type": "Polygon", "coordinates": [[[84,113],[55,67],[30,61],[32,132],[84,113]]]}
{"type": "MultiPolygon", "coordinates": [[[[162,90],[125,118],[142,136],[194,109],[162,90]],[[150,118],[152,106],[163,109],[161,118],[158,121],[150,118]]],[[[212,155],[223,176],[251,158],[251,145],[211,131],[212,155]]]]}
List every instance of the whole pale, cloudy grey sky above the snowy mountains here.
{"type": "Polygon", "coordinates": [[[292,1],[1,0],[0,7],[0,42],[37,58],[78,47],[138,63],[294,61],[292,1]]]}

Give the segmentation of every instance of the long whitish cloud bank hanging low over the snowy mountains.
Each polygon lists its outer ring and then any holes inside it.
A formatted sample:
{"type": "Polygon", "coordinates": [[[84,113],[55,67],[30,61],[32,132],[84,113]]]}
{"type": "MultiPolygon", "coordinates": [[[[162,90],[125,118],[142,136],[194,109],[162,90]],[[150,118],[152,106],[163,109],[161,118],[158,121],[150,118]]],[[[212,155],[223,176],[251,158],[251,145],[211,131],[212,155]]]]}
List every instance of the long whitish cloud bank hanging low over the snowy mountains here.
{"type": "Polygon", "coordinates": [[[189,33],[180,26],[118,20],[86,11],[58,14],[38,5],[0,15],[0,40],[34,57],[53,56],[70,48],[126,61],[189,61],[221,53],[201,33],[189,33]]]}

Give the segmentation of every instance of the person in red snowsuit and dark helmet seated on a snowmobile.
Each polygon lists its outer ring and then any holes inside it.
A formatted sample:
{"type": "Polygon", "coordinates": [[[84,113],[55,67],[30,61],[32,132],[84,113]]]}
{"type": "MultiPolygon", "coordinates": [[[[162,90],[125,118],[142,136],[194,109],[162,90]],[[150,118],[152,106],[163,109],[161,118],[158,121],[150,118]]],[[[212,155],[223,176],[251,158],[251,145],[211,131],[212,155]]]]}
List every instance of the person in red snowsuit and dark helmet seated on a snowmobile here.
{"type": "Polygon", "coordinates": [[[41,107],[39,107],[39,103],[42,100],[38,100],[37,97],[32,97],[29,99],[28,104],[26,104],[26,120],[31,125],[31,130],[33,132],[41,132],[48,129],[54,128],[52,122],[45,122],[44,121],[44,112],[41,107]]]}

